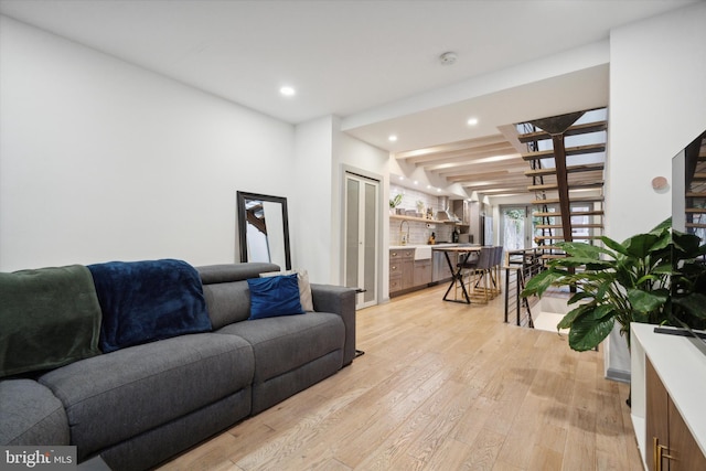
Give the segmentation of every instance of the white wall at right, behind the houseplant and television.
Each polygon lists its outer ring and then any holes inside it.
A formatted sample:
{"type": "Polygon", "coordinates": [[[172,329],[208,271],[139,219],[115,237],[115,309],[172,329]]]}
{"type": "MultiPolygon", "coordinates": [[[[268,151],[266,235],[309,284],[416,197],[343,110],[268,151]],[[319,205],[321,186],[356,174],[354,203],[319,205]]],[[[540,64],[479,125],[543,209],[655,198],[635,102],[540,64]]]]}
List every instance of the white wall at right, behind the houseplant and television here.
{"type": "MultiPolygon", "coordinates": [[[[606,235],[623,240],[672,212],[672,157],[706,129],[706,3],[616,29],[610,35],[610,129],[606,235]]],[[[630,370],[624,340],[611,336],[607,368],[630,370]]]]}

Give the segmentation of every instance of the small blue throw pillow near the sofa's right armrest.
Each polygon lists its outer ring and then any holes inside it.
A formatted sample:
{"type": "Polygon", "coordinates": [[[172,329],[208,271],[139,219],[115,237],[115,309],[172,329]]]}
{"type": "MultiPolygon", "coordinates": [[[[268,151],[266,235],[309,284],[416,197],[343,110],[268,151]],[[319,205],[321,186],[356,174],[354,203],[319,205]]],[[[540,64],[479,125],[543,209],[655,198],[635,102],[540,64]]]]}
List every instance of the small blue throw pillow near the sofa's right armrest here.
{"type": "Polygon", "coordinates": [[[250,278],[247,285],[250,288],[250,320],[304,313],[297,274],[250,278]]]}

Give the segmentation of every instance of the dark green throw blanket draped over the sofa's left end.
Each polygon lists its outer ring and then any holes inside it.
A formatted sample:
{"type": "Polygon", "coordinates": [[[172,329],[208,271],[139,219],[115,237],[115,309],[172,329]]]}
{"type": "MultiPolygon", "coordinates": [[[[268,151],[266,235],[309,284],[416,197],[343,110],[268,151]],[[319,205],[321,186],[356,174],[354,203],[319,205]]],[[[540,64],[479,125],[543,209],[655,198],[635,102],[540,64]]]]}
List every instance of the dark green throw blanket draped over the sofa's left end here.
{"type": "Polygon", "coordinates": [[[100,306],[88,268],[0,274],[0,377],[100,354],[100,306]]]}

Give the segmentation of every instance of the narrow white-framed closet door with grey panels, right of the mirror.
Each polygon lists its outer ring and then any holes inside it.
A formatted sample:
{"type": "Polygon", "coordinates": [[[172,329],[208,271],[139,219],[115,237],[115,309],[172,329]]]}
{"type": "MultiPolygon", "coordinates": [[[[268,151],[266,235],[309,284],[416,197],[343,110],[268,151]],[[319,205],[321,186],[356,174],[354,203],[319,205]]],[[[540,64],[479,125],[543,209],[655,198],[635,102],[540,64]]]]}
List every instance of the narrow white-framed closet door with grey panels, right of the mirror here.
{"type": "Polygon", "coordinates": [[[345,173],[345,256],[346,287],[363,290],[356,309],[377,304],[379,182],[345,173]]]}

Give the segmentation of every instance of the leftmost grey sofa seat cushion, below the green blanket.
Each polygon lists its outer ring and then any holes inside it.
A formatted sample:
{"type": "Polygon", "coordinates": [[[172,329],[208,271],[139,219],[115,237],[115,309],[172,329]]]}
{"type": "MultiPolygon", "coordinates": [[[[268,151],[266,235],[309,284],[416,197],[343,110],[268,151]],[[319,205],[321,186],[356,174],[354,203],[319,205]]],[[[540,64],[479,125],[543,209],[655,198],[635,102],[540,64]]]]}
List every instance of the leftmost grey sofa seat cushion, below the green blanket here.
{"type": "Polygon", "coordinates": [[[32,379],[0,382],[0,445],[69,445],[62,402],[32,379]]]}

